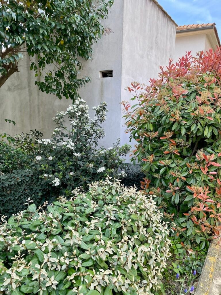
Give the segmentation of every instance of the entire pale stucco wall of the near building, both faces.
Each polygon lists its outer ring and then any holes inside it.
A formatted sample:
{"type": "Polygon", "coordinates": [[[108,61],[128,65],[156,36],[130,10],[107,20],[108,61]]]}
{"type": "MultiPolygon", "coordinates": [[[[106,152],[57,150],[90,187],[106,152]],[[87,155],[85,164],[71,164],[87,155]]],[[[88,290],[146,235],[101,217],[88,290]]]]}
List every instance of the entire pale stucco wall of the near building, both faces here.
{"type": "MultiPolygon", "coordinates": [[[[106,137],[100,142],[108,148],[118,137],[121,144],[128,142],[120,103],[130,97],[124,88],[132,81],[148,83],[158,76],[159,65],[168,64],[174,55],[176,24],[152,0],[115,0],[103,25],[113,32],[93,45],[92,61],[82,61],[81,76],[90,76],[92,82],[79,92],[90,109],[101,101],[108,103],[103,125],[106,137]],[[105,70],[113,70],[113,78],[100,78],[100,71],[105,70]]],[[[30,63],[26,55],[20,73],[13,74],[0,89],[0,131],[14,135],[37,129],[50,137],[52,117],[71,101],[39,91],[30,63]],[[6,123],[5,118],[16,125],[6,123]]],[[[90,114],[93,117],[92,111],[90,114]]]]}

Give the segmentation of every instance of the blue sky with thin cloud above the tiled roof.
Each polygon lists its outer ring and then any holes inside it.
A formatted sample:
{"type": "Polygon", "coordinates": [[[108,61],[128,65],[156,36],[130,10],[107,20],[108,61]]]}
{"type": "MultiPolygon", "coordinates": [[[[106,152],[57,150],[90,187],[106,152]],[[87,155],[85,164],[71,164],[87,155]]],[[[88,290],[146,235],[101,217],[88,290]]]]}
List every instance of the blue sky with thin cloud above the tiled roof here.
{"type": "Polygon", "coordinates": [[[157,0],[179,25],[216,23],[221,39],[221,0],[157,0]]]}

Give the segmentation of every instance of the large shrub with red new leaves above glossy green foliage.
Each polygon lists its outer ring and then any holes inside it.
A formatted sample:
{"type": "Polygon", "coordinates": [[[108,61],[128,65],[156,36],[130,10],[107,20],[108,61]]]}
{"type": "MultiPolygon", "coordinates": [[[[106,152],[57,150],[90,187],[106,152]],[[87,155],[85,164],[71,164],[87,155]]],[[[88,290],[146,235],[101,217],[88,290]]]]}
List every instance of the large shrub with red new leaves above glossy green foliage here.
{"type": "Polygon", "coordinates": [[[126,132],[136,140],[131,161],[146,174],[141,188],[155,196],[186,249],[201,249],[220,233],[221,49],[190,53],[161,67],[150,86],[131,83],[123,102],[126,132]],[[185,245],[184,245],[185,244],[185,245]]]}

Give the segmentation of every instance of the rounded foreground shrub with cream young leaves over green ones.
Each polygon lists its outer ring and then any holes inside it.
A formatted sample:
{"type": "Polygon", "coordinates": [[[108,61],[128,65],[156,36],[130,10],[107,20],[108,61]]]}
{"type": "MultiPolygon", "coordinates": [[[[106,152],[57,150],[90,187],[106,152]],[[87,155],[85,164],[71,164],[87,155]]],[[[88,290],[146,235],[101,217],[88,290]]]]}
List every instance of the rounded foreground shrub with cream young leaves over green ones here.
{"type": "Polygon", "coordinates": [[[0,226],[4,294],[154,295],[169,230],[152,197],[106,178],[0,226]]]}

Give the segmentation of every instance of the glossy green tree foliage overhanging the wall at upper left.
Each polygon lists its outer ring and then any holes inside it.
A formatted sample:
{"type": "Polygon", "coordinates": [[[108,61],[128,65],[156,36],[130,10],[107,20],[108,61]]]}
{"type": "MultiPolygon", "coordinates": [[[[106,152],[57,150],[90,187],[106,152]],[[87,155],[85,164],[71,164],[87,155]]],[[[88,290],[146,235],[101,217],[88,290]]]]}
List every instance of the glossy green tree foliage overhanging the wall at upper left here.
{"type": "Polygon", "coordinates": [[[41,91],[59,99],[74,99],[90,79],[79,79],[79,57],[90,59],[92,44],[103,34],[114,0],[1,0],[0,87],[15,72],[24,54],[32,57],[31,70],[41,91]],[[35,58],[34,58],[35,57],[35,58]]]}

